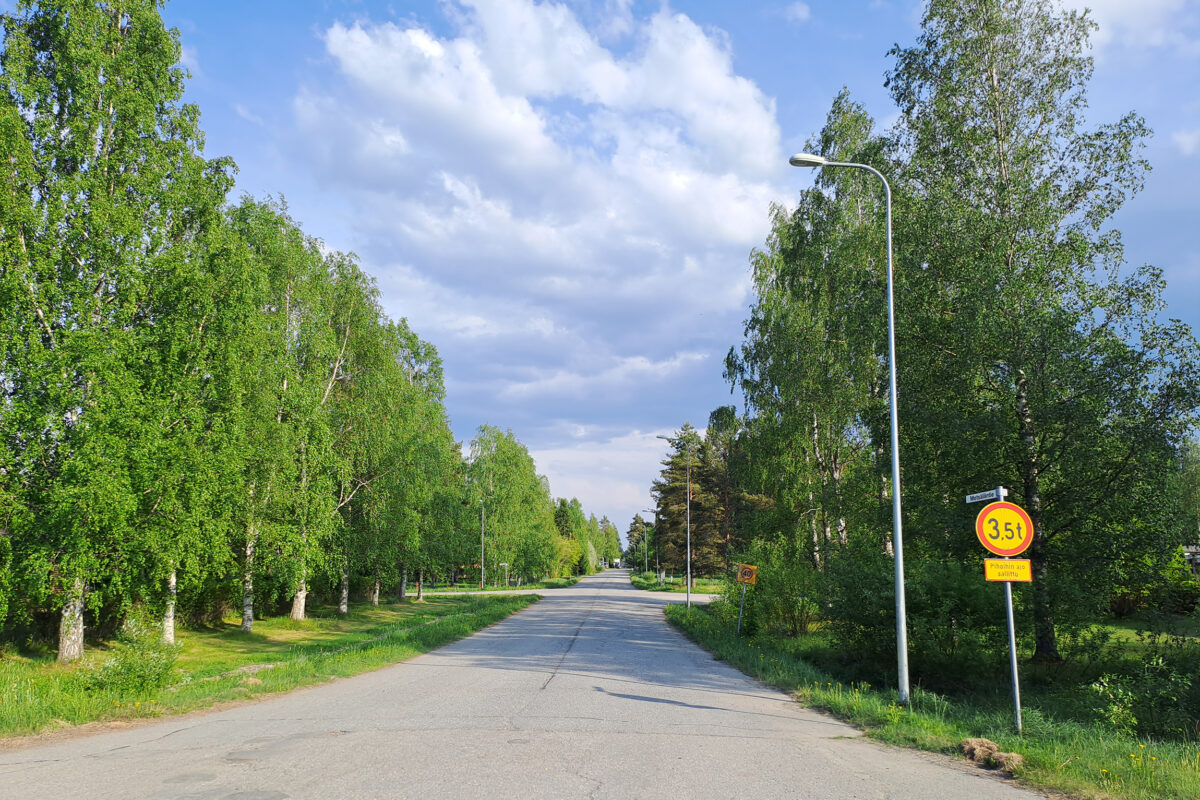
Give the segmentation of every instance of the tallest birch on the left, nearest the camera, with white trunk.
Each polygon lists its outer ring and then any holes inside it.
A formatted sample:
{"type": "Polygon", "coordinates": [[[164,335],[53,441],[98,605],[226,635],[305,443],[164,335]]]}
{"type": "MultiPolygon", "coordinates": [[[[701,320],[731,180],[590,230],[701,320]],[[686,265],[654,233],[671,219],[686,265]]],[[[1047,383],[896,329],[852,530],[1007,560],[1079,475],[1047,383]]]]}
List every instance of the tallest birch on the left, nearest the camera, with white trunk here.
{"type": "Polygon", "coordinates": [[[18,582],[61,609],[71,661],[85,602],[134,589],[130,434],[156,434],[139,428],[152,422],[132,367],[155,281],[220,201],[224,167],[199,155],[179,43],[151,0],[22,2],[4,25],[2,283],[22,320],[5,342],[5,427],[30,511],[11,535],[18,582]]]}

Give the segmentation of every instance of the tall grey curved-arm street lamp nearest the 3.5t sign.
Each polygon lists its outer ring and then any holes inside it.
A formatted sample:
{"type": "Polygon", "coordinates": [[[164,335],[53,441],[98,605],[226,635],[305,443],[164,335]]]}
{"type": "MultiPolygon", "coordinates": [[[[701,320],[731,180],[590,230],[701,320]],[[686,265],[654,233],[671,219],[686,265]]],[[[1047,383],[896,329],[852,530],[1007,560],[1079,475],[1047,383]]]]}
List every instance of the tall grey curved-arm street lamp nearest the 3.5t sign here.
{"type": "Polygon", "coordinates": [[[908,702],[908,625],[904,603],[904,536],[900,530],[900,421],[896,414],[896,320],[895,294],[892,278],[892,187],[883,173],[866,164],[829,161],[824,156],[798,152],[788,163],[793,167],[851,167],[865,169],[883,181],[883,198],[888,224],[888,393],[892,416],[892,549],[895,554],[896,582],[896,666],[900,682],[900,702],[908,702]]]}

